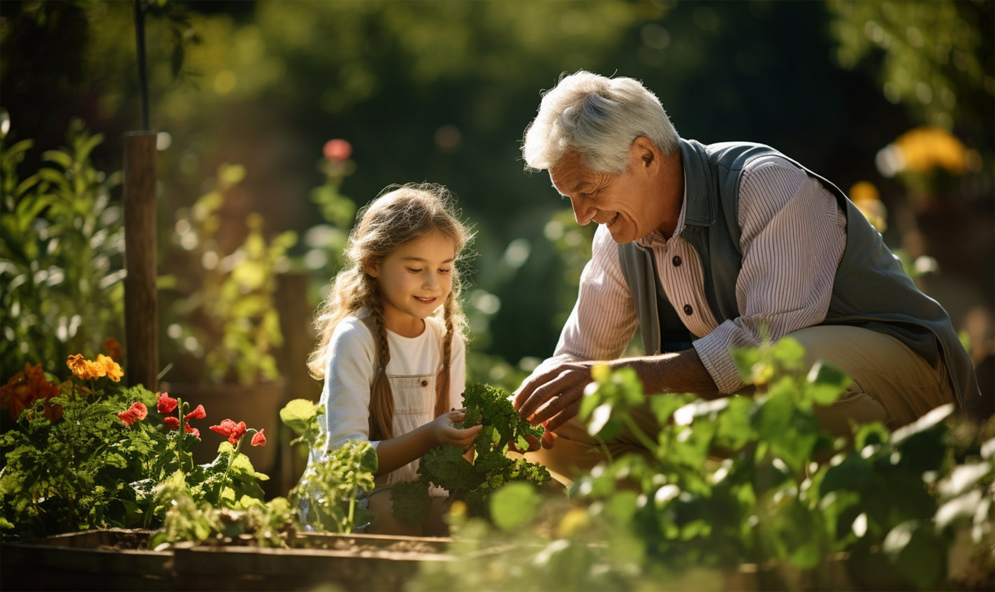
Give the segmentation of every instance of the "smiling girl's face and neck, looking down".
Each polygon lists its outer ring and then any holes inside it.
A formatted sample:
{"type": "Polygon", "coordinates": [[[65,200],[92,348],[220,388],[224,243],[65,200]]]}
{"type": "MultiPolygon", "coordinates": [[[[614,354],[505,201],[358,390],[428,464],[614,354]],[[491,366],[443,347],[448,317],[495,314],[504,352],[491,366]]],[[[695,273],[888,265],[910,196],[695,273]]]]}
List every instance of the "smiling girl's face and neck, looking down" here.
{"type": "Polygon", "coordinates": [[[438,230],[394,249],[379,265],[366,266],[377,279],[387,329],[404,337],[425,330],[425,317],[446,302],[453,289],[456,245],[438,230]]]}

